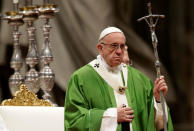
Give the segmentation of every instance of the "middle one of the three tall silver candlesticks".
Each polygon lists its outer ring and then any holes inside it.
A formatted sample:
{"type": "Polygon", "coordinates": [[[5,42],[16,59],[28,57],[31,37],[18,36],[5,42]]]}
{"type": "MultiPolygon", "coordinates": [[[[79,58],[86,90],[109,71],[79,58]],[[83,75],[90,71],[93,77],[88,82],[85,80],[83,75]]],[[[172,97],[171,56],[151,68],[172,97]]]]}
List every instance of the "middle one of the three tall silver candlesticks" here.
{"type": "Polygon", "coordinates": [[[26,57],[26,64],[30,69],[25,75],[25,84],[30,91],[37,93],[39,87],[39,73],[35,66],[38,64],[39,56],[36,48],[35,30],[33,22],[38,18],[38,11],[36,6],[32,6],[32,0],[26,0],[26,6],[20,9],[23,14],[23,20],[27,24],[29,48],[26,57]]]}

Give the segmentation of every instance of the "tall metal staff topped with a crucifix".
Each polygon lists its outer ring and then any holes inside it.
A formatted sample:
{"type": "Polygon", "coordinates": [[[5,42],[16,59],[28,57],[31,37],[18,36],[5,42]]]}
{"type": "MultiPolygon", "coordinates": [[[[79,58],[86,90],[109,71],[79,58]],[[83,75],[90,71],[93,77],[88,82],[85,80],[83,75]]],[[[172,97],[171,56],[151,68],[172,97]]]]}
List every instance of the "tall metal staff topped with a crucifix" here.
{"type": "MultiPolygon", "coordinates": [[[[164,15],[153,15],[151,11],[151,3],[148,3],[147,6],[148,6],[149,15],[139,18],[137,21],[145,20],[148,26],[150,27],[152,45],[153,45],[154,56],[155,56],[155,68],[156,68],[157,78],[159,78],[161,76],[161,72],[160,72],[160,61],[159,61],[159,56],[158,56],[158,51],[157,51],[158,39],[155,34],[155,27],[158,22],[158,19],[165,18],[165,16],[164,15]],[[156,18],[155,22],[153,21],[153,18],[156,18]]],[[[165,98],[164,98],[162,91],[160,91],[160,100],[162,103],[164,131],[168,131],[166,110],[165,110],[165,98]]]]}

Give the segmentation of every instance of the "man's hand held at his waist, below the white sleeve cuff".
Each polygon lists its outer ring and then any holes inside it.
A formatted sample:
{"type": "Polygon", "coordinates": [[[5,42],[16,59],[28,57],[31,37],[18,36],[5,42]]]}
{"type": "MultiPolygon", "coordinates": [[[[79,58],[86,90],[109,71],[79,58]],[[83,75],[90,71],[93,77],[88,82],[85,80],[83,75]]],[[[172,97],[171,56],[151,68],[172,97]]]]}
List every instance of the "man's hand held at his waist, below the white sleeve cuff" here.
{"type": "Polygon", "coordinates": [[[132,122],[134,111],[130,107],[118,107],[117,108],[117,122],[132,122]]]}

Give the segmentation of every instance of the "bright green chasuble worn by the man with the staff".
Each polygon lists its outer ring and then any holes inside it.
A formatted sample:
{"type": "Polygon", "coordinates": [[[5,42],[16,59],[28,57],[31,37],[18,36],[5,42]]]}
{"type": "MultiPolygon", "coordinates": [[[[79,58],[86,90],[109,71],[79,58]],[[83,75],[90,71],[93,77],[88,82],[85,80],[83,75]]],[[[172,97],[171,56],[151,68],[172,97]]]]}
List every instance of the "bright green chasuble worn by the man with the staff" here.
{"type": "MultiPolygon", "coordinates": [[[[153,84],[128,66],[126,97],[134,110],[133,131],[155,131],[153,84]]],[[[103,113],[117,107],[113,88],[91,67],[77,70],[68,83],[65,99],[65,131],[99,131],[103,113]]],[[[121,130],[118,124],[117,131],[121,130]]],[[[168,111],[168,131],[173,131],[168,111]]]]}

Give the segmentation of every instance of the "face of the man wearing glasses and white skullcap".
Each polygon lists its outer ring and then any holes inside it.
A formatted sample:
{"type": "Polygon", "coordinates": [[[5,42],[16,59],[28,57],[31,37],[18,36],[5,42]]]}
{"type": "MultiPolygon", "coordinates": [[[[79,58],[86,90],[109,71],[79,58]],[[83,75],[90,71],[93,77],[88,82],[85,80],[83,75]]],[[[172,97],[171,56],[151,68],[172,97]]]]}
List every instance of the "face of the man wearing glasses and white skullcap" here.
{"type": "Polygon", "coordinates": [[[123,33],[111,33],[98,43],[98,51],[109,66],[116,67],[121,64],[125,50],[125,42],[123,33]]]}

